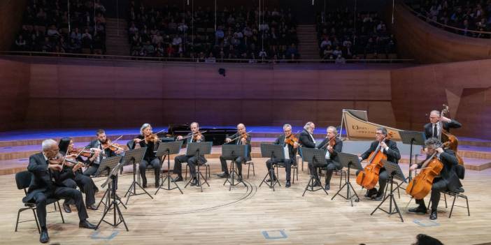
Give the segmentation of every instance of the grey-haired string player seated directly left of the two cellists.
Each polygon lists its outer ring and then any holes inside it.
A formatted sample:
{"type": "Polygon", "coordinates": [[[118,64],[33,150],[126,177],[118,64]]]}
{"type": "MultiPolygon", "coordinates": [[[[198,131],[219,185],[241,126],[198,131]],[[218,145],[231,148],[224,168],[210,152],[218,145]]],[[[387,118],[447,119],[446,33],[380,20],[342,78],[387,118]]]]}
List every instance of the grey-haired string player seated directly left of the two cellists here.
{"type": "MultiPolygon", "coordinates": [[[[321,168],[327,167],[326,185],[325,185],[325,189],[327,191],[330,188],[329,183],[331,182],[332,172],[334,172],[334,170],[341,170],[341,168],[343,168],[341,166],[341,163],[339,163],[339,156],[338,156],[338,153],[341,152],[341,150],[343,149],[343,141],[339,138],[336,138],[338,131],[334,126],[327,127],[326,131],[327,131],[327,137],[325,138],[325,140],[320,142],[319,149],[326,150],[327,165],[322,165],[318,167],[321,168]]],[[[315,168],[313,168],[313,165],[311,163],[308,163],[308,168],[310,168],[311,172],[315,172],[315,168]]],[[[314,175],[316,179],[318,179],[318,173],[315,172],[314,175]]]]}

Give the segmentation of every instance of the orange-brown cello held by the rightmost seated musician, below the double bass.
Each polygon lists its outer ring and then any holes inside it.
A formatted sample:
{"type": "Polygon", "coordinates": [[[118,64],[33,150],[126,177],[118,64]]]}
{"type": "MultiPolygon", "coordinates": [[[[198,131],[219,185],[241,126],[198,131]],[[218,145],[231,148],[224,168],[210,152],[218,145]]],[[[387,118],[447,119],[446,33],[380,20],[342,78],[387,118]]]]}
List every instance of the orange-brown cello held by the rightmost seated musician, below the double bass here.
{"type": "MultiPolygon", "coordinates": [[[[449,143],[443,143],[440,147],[449,143]]],[[[435,151],[424,163],[422,163],[421,172],[409,181],[406,187],[406,193],[416,200],[425,198],[429,191],[432,190],[433,179],[440,174],[443,169],[443,163],[436,157],[438,152],[435,151]]]]}

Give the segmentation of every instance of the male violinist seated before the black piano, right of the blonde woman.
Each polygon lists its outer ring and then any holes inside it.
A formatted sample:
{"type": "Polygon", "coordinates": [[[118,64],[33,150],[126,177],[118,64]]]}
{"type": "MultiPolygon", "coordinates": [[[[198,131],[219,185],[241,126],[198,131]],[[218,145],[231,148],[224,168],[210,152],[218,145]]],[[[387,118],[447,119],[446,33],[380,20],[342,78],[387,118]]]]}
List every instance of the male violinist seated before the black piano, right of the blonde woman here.
{"type": "MultiPolygon", "coordinates": [[[[204,135],[199,133],[199,124],[197,122],[193,122],[190,125],[191,133],[188,133],[185,137],[179,135],[176,140],[186,140],[187,143],[192,143],[192,142],[204,142],[205,138],[204,135]]],[[[173,181],[183,181],[183,167],[181,166],[181,163],[187,163],[187,165],[190,167],[190,174],[192,177],[192,186],[197,186],[198,185],[198,179],[196,178],[196,165],[199,163],[206,163],[206,158],[204,155],[200,155],[199,159],[196,156],[186,156],[186,155],[180,155],[176,156],[174,158],[174,169],[173,173],[177,174],[178,177],[173,179],[173,181]]]]}

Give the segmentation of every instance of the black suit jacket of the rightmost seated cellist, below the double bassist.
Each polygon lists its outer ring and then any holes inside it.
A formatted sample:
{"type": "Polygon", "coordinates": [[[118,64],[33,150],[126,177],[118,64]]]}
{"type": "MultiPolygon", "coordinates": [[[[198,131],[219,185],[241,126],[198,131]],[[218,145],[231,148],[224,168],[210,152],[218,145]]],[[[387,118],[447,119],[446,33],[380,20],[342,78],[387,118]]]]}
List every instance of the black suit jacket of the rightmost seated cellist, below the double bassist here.
{"type": "MultiPolygon", "coordinates": [[[[429,156],[427,156],[427,159],[428,158],[429,156]]],[[[455,172],[455,168],[457,168],[457,165],[459,165],[455,152],[451,149],[444,149],[440,154],[440,161],[443,163],[443,169],[440,172],[440,177],[446,181],[448,190],[455,191],[457,188],[462,186],[460,179],[455,172]]],[[[421,168],[423,162],[418,163],[418,168],[421,168]]]]}

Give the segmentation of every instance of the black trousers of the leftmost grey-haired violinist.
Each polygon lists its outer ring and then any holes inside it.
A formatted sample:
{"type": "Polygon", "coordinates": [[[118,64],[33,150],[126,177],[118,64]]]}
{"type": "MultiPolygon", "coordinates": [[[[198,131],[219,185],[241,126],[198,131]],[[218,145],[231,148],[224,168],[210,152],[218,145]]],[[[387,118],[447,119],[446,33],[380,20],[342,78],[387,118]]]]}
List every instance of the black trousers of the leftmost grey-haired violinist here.
{"type": "Polygon", "coordinates": [[[39,192],[34,195],[36,202],[36,214],[41,228],[46,228],[46,202],[48,198],[72,199],[78,210],[78,219],[84,221],[89,216],[85,205],[83,205],[82,193],[76,189],[69,187],[57,187],[54,191],[39,192]]]}

